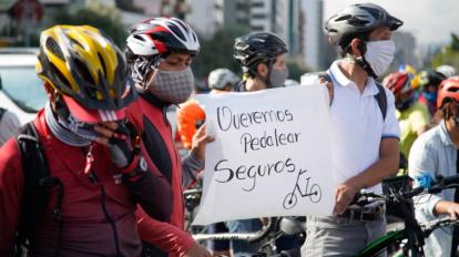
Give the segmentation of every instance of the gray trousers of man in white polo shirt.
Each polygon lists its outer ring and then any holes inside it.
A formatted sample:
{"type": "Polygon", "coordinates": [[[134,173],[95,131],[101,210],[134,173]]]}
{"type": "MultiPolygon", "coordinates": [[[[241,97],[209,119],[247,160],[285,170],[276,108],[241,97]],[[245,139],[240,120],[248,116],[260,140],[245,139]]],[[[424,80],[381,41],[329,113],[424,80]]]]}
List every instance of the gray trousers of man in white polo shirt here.
{"type": "MultiPolygon", "coordinates": [[[[359,222],[341,217],[308,216],[302,257],[355,256],[366,245],[386,234],[386,218],[359,222]]],[[[384,253],[380,256],[386,256],[384,253]]]]}

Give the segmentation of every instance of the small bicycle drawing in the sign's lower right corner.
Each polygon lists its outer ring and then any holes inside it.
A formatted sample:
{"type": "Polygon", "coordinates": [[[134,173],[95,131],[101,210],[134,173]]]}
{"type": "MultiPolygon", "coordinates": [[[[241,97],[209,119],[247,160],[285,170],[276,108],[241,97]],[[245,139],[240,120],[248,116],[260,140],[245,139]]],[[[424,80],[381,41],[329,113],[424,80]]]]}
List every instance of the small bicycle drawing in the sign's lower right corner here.
{"type": "Polygon", "coordinates": [[[298,202],[298,197],[296,195],[297,191],[298,191],[298,193],[302,197],[309,197],[309,201],[314,204],[320,202],[320,199],[322,199],[320,186],[317,185],[317,184],[313,184],[310,186],[310,189],[309,189],[310,177],[306,177],[306,191],[305,191],[306,193],[303,193],[302,188],[299,187],[299,184],[298,184],[299,177],[303,174],[305,174],[306,172],[307,172],[307,169],[305,169],[305,171],[299,169],[298,176],[296,177],[296,183],[295,183],[295,187],[294,187],[293,192],[288,193],[284,198],[283,207],[285,209],[290,209],[290,208],[296,206],[296,204],[298,202]]]}

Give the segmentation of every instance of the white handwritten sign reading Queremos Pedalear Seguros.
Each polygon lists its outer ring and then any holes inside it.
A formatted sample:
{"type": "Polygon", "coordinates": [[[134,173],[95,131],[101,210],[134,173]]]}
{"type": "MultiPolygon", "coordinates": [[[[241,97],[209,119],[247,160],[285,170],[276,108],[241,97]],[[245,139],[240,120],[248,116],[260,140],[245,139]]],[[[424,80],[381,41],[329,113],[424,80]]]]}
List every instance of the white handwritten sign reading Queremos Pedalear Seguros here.
{"type": "Polygon", "coordinates": [[[204,188],[195,225],[330,215],[330,116],[325,86],[197,95],[206,113],[204,188]]]}

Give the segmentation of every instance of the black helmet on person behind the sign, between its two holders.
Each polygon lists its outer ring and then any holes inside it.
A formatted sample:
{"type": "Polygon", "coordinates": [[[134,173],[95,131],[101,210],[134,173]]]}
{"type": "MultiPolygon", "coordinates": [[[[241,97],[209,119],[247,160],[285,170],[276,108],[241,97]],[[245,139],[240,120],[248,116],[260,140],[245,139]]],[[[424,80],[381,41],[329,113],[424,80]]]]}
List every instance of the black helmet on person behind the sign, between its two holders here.
{"type": "Polygon", "coordinates": [[[254,32],[235,39],[233,58],[241,63],[245,73],[255,75],[259,62],[273,64],[276,56],[288,52],[285,42],[274,33],[254,32]]]}

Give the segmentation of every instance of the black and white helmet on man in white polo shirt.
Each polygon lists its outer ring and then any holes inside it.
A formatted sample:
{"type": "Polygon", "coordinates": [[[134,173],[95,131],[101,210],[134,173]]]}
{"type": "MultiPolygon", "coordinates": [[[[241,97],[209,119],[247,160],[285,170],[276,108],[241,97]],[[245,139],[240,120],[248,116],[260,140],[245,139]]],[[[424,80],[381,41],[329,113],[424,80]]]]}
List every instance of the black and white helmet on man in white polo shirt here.
{"type": "Polygon", "coordinates": [[[325,23],[325,32],[332,44],[344,49],[353,35],[370,32],[381,25],[387,25],[394,31],[402,24],[401,20],[377,4],[356,3],[330,17],[325,23]]]}

